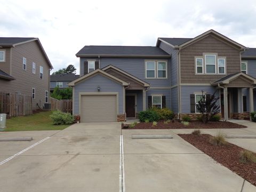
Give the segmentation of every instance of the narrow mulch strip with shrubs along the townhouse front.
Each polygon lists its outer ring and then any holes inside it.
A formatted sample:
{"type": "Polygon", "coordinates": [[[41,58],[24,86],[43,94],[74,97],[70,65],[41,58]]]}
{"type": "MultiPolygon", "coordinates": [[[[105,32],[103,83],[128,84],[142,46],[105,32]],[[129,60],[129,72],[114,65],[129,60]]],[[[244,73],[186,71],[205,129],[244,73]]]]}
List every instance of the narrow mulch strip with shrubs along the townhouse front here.
{"type": "Polygon", "coordinates": [[[170,122],[164,124],[164,121],[158,121],[156,126],[153,123],[138,123],[133,128],[126,129],[239,129],[246,128],[244,125],[239,125],[231,122],[208,122],[203,123],[201,121],[191,121],[189,125],[183,125],[179,121],[170,122]]]}

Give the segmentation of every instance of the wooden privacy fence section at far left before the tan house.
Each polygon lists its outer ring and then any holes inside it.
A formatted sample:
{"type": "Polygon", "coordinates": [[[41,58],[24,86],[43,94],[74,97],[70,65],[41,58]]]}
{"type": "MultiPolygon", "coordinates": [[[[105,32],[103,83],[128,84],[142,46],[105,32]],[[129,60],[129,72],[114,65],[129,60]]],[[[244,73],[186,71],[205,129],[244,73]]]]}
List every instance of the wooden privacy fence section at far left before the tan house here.
{"type": "Polygon", "coordinates": [[[9,117],[32,115],[31,96],[0,91],[0,113],[5,113],[9,117]]]}

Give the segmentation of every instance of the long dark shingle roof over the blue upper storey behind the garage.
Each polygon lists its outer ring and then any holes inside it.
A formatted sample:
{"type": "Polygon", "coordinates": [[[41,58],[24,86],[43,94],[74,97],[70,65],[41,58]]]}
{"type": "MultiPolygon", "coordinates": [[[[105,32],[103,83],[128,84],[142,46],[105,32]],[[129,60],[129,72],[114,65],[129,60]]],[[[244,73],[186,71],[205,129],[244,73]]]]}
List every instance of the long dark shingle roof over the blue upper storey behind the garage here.
{"type": "Polygon", "coordinates": [[[155,46],[84,46],[78,53],[77,57],[83,56],[101,56],[101,57],[170,57],[159,47],[155,46]]]}

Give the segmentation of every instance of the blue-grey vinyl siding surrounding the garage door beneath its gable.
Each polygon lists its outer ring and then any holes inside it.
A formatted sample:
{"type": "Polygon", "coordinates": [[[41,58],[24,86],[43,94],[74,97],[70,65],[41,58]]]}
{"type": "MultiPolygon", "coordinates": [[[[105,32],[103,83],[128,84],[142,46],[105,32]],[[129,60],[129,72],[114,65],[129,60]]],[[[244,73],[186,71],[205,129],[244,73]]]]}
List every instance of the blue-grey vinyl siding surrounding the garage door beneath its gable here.
{"type": "MultiPolygon", "coordinates": [[[[124,114],[123,106],[123,86],[102,75],[95,75],[85,81],[77,83],[74,89],[74,114],[79,114],[79,92],[98,92],[100,86],[101,92],[118,92],[118,109],[119,114],[124,114]]],[[[118,113],[118,111],[117,111],[118,113]]]]}

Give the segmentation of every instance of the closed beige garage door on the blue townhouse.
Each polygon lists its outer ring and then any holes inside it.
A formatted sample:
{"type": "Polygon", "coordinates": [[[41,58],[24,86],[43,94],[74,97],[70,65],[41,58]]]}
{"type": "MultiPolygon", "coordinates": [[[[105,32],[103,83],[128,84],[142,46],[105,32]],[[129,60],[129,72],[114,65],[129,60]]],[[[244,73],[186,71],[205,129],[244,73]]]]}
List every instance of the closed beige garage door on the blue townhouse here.
{"type": "Polygon", "coordinates": [[[116,95],[82,95],[81,122],[116,122],[116,95]]]}

